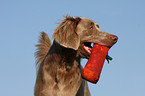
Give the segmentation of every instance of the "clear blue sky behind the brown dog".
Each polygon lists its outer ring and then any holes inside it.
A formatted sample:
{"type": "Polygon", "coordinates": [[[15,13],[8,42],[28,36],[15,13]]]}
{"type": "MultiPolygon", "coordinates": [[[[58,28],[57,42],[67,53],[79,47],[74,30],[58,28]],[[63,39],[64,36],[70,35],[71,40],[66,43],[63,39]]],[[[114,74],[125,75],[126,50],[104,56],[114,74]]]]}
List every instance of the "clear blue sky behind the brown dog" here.
{"type": "MultiPolygon", "coordinates": [[[[1,96],[33,96],[40,32],[51,38],[63,16],[88,17],[119,37],[92,96],[145,96],[145,0],[1,0],[1,96]]],[[[82,65],[87,60],[82,60],[82,65]]]]}

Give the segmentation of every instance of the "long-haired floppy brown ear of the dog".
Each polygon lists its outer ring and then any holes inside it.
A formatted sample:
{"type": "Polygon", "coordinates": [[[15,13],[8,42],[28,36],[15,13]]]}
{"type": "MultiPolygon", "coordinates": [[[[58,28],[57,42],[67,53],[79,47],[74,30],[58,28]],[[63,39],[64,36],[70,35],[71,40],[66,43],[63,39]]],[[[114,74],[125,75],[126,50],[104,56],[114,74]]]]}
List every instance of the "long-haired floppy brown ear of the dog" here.
{"type": "Polygon", "coordinates": [[[80,44],[80,37],[76,33],[76,27],[80,20],[79,17],[66,16],[55,29],[53,38],[64,47],[77,50],[80,44]]]}

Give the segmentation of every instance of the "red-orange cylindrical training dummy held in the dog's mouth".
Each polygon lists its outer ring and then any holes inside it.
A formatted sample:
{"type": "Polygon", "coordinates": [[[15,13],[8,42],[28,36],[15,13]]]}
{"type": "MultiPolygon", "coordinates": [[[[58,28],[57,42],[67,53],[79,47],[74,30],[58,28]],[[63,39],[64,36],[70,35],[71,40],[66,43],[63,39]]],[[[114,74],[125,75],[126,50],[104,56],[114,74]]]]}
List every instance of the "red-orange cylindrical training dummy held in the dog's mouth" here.
{"type": "Polygon", "coordinates": [[[89,60],[82,72],[84,79],[97,83],[108,51],[108,47],[97,44],[93,46],[89,60]]]}

